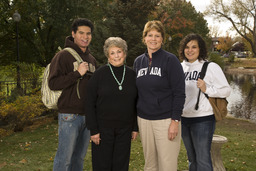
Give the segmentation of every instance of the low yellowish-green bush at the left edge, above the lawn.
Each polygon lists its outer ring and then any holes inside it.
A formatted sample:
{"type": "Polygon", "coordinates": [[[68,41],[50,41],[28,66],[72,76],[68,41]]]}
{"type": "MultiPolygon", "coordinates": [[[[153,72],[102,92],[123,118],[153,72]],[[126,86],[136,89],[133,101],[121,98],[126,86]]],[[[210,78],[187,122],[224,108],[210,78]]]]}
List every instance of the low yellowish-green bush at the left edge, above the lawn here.
{"type": "Polygon", "coordinates": [[[11,127],[13,131],[22,131],[25,125],[32,124],[32,120],[45,110],[40,92],[37,92],[30,96],[19,96],[11,103],[2,101],[0,120],[11,127]]]}

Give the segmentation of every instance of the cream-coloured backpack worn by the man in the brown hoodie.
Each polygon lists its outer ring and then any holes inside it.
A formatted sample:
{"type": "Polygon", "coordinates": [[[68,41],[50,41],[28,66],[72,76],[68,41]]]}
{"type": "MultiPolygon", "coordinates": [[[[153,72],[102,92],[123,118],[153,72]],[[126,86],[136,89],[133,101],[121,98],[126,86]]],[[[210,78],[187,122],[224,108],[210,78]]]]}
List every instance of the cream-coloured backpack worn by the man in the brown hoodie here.
{"type": "MultiPolygon", "coordinates": [[[[71,53],[72,56],[77,60],[79,64],[83,62],[80,55],[74,49],[65,48],[64,50],[67,50],[69,53],[71,53]]],[[[48,86],[49,70],[50,70],[50,64],[48,64],[44,70],[42,87],[41,87],[42,102],[48,109],[58,109],[57,103],[62,93],[62,90],[55,91],[49,88],[48,86]]],[[[78,84],[79,84],[79,80],[77,82],[77,95],[80,98],[78,84]]]]}

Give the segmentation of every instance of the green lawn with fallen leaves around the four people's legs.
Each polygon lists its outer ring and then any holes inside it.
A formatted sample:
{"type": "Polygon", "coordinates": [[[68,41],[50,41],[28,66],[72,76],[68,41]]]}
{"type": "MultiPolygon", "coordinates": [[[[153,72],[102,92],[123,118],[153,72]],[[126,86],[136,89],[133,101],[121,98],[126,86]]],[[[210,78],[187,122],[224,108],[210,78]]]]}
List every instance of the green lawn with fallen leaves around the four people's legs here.
{"type": "MultiPolygon", "coordinates": [[[[0,170],[50,171],[58,145],[58,124],[50,120],[38,128],[26,129],[0,138],[0,170]]],[[[217,123],[215,134],[228,138],[222,146],[222,159],[227,171],[253,171],[256,168],[256,124],[227,118],[217,123]]],[[[84,170],[91,169],[88,149],[84,170]]],[[[139,138],[132,142],[130,170],[142,171],[144,158],[139,138]]],[[[179,170],[187,169],[186,150],[182,143],[179,170]]]]}

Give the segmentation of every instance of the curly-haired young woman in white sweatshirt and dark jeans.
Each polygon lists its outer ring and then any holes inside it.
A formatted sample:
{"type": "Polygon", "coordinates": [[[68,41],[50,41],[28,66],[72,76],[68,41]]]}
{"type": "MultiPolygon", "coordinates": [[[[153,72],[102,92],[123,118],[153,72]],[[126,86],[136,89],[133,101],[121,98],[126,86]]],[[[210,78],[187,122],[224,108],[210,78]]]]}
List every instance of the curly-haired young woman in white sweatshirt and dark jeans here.
{"type": "Polygon", "coordinates": [[[209,97],[228,97],[231,89],[221,68],[211,62],[204,80],[199,79],[207,58],[204,40],[198,34],[187,35],[180,43],[179,55],[185,72],[186,101],[182,114],[182,139],[187,150],[190,171],[212,171],[211,142],[215,118],[209,97]],[[199,108],[196,110],[198,92],[199,108]]]}

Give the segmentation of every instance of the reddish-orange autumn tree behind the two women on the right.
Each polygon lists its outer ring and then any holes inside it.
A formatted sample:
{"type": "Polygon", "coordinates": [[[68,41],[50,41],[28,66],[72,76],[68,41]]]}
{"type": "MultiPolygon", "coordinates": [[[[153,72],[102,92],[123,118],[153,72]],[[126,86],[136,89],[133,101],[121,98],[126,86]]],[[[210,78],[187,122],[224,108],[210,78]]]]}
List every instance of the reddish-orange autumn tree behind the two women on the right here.
{"type": "Polygon", "coordinates": [[[209,29],[202,13],[198,13],[190,2],[167,1],[159,4],[151,17],[160,20],[166,30],[164,48],[178,55],[179,42],[189,33],[200,34],[207,42],[209,29]]]}

